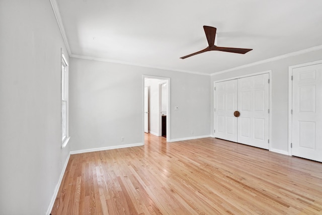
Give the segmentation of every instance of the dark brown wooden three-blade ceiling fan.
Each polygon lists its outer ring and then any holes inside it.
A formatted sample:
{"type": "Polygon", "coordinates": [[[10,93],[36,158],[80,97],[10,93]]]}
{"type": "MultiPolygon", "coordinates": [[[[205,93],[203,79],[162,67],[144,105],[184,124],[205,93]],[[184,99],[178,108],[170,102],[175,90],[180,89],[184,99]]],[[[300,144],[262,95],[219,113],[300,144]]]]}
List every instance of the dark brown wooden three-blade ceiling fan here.
{"type": "Polygon", "coordinates": [[[219,47],[215,45],[215,38],[216,38],[216,28],[210,27],[210,26],[203,26],[203,29],[205,31],[207,41],[208,41],[208,47],[205,49],[202,49],[201,51],[197,51],[195,53],[180,57],[181,59],[185,59],[187,57],[191,57],[196,54],[200,54],[206,51],[225,51],[225,52],[232,52],[232,53],[238,53],[238,54],[245,54],[253,49],[249,48],[228,48],[228,47],[219,47]]]}

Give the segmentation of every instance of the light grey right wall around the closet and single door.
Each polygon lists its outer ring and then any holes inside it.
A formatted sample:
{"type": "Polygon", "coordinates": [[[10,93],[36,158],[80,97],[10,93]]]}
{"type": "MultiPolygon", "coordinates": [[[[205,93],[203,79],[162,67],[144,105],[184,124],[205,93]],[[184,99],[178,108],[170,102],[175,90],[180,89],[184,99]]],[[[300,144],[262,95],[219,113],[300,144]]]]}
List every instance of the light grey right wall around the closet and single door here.
{"type": "MultiPolygon", "coordinates": [[[[288,154],[288,66],[322,59],[322,50],[242,68],[211,77],[211,110],[213,110],[213,82],[272,70],[272,151],[288,154]]],[[[211,111],[211,133],[213,134],[213,111],[211,111]]]]}

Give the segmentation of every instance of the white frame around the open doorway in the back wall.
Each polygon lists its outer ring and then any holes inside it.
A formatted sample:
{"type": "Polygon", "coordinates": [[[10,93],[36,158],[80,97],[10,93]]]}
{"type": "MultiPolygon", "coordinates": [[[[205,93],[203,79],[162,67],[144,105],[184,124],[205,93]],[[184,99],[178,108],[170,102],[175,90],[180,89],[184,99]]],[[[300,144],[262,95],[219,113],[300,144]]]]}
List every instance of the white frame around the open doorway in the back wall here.
{"type": "MultiPolygon", "coordinates": [[[[171,82],[170,78],[168,77],[160,77],[160,76],[148,76],[148,75],[143,75],[142,76],[142,139],[143,139],[143,144],[145,141],[144,138],[144,87],[145,87],[145,79],[159,79],[159,80],[164,80],[164,82],[168,83],[168,112],[167,112],[167,142],[170,142],[170,117],[171,117],[171,109],[170,109],[170,95],[171,95],[171,82]]],[[[160,115],[160,111],[159,111],[160,115]]]]}

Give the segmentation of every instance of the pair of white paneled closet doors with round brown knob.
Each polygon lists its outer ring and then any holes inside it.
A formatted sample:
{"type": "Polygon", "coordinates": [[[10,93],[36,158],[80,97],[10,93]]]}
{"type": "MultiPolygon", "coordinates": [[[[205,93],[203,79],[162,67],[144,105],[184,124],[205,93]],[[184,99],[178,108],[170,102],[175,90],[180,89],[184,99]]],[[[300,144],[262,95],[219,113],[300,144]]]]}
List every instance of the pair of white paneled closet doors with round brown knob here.
{"type": "Polygon", "coordinates": [[[216,138],[269,149],[269,74],[215,83],[216,138]]]}

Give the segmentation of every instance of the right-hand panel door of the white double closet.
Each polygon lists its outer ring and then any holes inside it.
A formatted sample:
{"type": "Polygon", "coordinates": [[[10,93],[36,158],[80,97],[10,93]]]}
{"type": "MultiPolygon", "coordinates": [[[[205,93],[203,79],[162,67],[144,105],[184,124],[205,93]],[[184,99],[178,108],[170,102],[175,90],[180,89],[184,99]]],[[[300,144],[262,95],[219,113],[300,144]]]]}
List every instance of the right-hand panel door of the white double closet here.
{"type": "Polygon", "coordinates": [[[269,74],[238,79],[238,142],[269,149],[269,74]]]}

